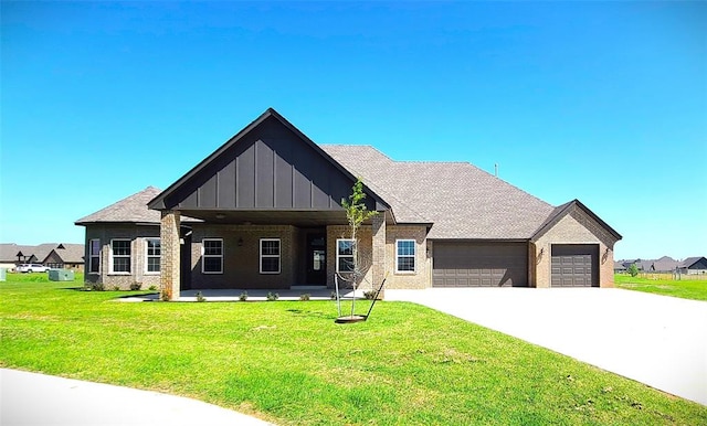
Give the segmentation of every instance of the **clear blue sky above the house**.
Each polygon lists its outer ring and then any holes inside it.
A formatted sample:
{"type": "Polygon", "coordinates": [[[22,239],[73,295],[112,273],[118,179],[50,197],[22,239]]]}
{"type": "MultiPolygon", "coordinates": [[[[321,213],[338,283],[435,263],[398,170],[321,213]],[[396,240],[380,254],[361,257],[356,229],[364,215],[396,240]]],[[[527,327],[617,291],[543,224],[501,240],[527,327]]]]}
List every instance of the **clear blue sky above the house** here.
{"type": "Polygon", "coordinates": [[[0,242],[81,243],[274,107],[317,143],[579,199],[616,258],[707,255],[707,2],[1,8],[0,242]]]}

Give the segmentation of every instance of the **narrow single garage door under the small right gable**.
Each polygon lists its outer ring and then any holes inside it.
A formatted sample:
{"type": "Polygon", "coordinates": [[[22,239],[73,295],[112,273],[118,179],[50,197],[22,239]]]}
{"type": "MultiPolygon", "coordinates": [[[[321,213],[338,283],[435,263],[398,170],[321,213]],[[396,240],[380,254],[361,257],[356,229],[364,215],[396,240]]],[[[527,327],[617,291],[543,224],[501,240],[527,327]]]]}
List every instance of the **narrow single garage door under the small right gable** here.
{"type": "Polygon", "coordinates": [[[599,287],[598,244],[553,244],[552,287],[599,287]]]}

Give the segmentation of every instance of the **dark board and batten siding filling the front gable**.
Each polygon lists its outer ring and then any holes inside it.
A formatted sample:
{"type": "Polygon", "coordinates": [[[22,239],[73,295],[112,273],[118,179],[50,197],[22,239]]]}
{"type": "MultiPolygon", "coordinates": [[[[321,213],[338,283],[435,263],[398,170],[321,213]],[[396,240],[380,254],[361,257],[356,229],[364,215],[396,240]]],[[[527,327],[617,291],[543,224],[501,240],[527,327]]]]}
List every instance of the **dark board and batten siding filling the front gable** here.
{"type": "Polygon", "coordinates": [[[173,200],[183,210],[339,210],[352,184],[271,118],[202,169],[173,200]]]}

